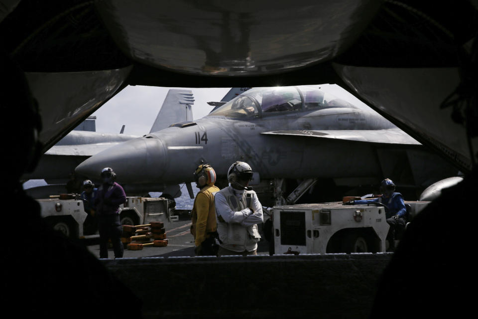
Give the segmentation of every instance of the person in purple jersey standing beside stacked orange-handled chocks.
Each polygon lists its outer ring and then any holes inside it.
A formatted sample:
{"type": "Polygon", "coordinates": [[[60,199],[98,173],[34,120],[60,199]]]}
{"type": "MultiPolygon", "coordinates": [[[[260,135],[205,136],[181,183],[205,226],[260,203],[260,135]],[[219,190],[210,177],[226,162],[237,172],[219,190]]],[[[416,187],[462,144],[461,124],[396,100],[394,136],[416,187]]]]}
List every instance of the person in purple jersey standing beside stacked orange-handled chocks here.
{"type": "Polygon", "coordinates": [[[123,187],[114,180],[116,173],[110,167],[101,171],[103,184],[98,189],[95,200],[98,209],[100,230],[100,258],[108,258],[108,239],[113,243],[115,258],[123,257],[123,244],[121,243],[122,226],[119,219],[119,205],[126,202],[123,187]]]}

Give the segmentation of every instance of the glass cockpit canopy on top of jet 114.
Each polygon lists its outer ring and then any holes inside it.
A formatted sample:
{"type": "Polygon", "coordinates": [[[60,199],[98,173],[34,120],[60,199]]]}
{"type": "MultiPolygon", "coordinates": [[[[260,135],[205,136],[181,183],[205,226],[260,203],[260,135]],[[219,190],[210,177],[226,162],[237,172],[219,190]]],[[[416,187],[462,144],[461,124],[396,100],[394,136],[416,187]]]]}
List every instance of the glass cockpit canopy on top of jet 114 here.
{"type": "Polygon", "coordinates": [[[252,88],[211,112],[209,116],[229,118],[261,117],[277,112],[297,112],[318,108],[357,108],[326,93],[320,85],[252,88]]]}

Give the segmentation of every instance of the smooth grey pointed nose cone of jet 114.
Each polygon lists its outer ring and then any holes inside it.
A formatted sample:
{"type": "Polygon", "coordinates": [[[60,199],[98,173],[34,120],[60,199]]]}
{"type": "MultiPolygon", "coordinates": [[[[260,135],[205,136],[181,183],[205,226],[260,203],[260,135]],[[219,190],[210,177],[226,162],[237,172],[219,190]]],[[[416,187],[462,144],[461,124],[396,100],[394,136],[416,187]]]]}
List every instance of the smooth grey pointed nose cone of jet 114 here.
{"type": "Polygon", "coordinates": [[[101,170],[111,167],[120,183],[151,183],[164,174],[165,164],[166,152],[159,139],[138,138],[92,156],[75,171],[98,180],[101,170]]]}

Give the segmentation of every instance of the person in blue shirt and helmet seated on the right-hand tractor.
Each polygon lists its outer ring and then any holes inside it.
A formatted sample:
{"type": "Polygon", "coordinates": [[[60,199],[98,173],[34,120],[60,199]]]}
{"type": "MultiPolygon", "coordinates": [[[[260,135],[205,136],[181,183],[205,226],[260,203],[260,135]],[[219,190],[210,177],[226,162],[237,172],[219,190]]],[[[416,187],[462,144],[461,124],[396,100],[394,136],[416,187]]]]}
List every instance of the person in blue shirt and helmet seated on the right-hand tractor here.
{"type": "Polygon", "coordinates": [[[380,183],[381,197],[373,199],[361,199],[348,202],[349,204],[368,204],[370,202],[379,202],[385,205],[385,217],[390,229],[387,234],[389,251],[395,250],[395,238],[400,238],[406,225],[407,208],[403,201],[403,196],[395,192],[395,184],[389,178],[380,183]]]}

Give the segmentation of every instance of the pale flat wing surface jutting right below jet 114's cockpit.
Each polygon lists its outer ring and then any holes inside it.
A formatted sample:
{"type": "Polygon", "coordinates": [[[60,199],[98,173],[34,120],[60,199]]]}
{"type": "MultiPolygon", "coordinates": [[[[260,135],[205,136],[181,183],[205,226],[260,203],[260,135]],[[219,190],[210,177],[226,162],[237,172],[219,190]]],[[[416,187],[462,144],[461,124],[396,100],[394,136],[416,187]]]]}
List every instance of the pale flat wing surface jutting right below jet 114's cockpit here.
{"type": "Polygon", "coordinates": [[[288,135],[311,138],[339,139],[346,141],[421,145],[416,140],[405,134],[398,128],[386,130],[297,130],[297,131],[271,131],[264,132],[265,135],[288,135]]]}

